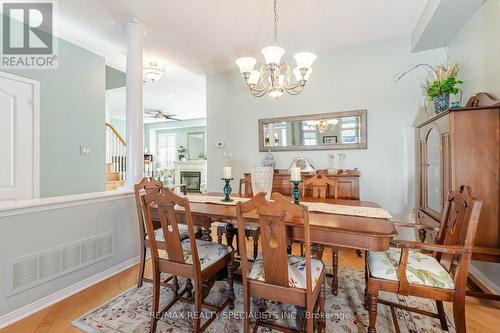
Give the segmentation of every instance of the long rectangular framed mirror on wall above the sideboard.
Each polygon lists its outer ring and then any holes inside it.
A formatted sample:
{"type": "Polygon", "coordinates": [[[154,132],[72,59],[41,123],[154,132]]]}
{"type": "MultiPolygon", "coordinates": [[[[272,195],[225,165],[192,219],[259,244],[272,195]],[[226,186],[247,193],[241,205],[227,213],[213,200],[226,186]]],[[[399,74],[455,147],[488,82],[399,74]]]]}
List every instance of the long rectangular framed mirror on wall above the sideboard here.
{"type": "Polygon", "coordinates": [[[259,120],[260,151],[366,148],[366,110],[259,120]]]}

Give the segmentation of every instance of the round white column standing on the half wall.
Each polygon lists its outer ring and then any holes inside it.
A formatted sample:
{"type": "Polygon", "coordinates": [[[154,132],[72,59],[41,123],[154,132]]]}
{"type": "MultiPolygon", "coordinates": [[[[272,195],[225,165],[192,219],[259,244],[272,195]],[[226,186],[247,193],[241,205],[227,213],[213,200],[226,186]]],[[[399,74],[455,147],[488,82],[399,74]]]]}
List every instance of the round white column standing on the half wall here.
{"type": "Polygon", "coordinates": [[[131,188],[144,174],[144,124],[142,101],[142,49],[147,28],[134,19],[121,22],[127,34],[126,143],[127,174],[125,188],[131,188]]]}

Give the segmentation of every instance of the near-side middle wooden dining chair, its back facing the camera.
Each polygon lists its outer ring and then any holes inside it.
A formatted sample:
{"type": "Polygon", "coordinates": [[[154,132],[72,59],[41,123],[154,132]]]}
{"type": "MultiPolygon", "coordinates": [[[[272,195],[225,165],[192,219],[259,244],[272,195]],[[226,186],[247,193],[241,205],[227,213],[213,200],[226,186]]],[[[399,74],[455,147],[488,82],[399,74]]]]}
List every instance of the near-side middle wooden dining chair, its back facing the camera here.
{"type": "MultiPolygon", "coordinates": [[[[294,205],[279,193],[273,193],[274,202],[267,201],[264,193],[247,202],[238,202],[238,237],[240,238],[241,272],[243,279],[244,332],[250,330],[250,297],[293,304],[306,309],[306,328],[312,333],[314,310],[324,317],[325,267],[320,260],[311,258],[309,213],[306,207],[294,205]],[[245,214],[255,212],[259,216],[262,253],[257,256],[251,269],[245,249],[245,214]],[[305,257],[287,254],[286,219],[304,225],[305,257]]],[[[316,313],[318,314],[318,313],[316,313]]],[[[324,328],[323,319],[316,320],[318,331],[324,328]]],[[[290,328],[257,319],[258,326],[291,332],[290,328]]]]}

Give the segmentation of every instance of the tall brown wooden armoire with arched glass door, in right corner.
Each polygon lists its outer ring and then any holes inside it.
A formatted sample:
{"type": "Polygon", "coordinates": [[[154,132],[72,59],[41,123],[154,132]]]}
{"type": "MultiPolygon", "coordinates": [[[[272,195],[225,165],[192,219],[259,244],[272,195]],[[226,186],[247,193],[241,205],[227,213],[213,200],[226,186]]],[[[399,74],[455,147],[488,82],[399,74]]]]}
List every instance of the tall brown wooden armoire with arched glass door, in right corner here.
{"type": "MultiPolygon", "coordinates": [[[[418,221],[439,226],[446,195],[460,185],[483,201],[473,259],[500,262],[500,102],[485,93],[465,108],[419,124],[418,221]]],[[[435,234],[420,234],[432,241],[435,234]]]]}

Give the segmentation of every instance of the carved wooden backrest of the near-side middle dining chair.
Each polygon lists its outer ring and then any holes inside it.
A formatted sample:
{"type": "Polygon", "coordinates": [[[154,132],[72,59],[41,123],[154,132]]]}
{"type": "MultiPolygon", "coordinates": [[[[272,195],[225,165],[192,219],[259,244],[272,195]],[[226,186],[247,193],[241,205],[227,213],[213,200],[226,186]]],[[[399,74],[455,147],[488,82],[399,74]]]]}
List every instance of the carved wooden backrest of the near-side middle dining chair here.
{"type": "Polygon", "coordinates": [[[244,281],[248,277],[248,258],[245,242],[245,214],[255,212],[260,225],[260,239],[265,280],[267,284],[289,286],[286,221],[303,223],[306,257],[306,286],[312,290],[309,213],[306,207],[294,205],[280,193],[272,194],[273,202],[257,194],[247,202],[238,202],[238,237],[244,281]]]}

